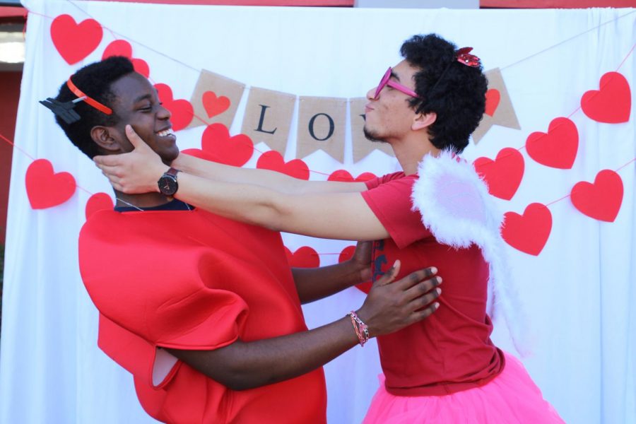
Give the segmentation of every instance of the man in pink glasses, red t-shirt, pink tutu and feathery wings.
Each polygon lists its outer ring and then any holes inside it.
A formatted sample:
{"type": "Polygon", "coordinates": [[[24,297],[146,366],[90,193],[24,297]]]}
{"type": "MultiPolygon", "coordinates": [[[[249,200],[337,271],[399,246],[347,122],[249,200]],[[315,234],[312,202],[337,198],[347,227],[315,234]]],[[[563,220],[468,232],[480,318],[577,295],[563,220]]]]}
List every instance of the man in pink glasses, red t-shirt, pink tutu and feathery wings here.
{"type": "MultiPolygon", "coordinates": [[[[171,164],[184,171],[177,199],[213,213],[314,237],[376,240],[375,281],[397,259],[401,275],[439,267],[440,310],[378,338],[384,384],[365,423],[562,422],[521,363],[490,341],[489,288],[516,343],[524,334],[512,324],[523,317],[508,290],[501,214],[458,156],[483,116],[488,88],[471,50],[415,35],[401,46],[404,60],[367,93],[365,135],[389,143],[402,172],[366,184],[280,177],[262,187],[249,172],[184,155],[171,164]]],[[[132,153],[95,162],[122,192],[146,192],[168,166],[145,137],[129,139],[132,153]]]]}

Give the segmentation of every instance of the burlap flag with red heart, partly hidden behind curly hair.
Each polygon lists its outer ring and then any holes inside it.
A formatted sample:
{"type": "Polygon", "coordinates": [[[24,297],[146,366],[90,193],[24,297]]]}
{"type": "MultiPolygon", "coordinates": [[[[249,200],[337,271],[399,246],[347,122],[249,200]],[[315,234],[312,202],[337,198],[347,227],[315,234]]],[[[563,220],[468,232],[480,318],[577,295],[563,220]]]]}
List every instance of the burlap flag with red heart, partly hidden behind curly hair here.
{"type": "Polygon", "coordinates": [[[479,126],[475,132],[473,132],[473,141],[475,144],[479,143],[493,125],[521,129],[500,69],[490,69],[490,71],[485,72],[485,76],[488,78],[486,107],[479,126]]]}

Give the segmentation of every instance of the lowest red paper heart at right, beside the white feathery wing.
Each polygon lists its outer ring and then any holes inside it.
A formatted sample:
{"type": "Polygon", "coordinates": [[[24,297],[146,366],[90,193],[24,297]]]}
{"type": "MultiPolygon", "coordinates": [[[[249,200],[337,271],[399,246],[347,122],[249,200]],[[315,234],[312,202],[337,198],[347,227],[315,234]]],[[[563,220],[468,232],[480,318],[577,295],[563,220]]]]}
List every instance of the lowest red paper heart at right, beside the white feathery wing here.
{"type": "Polygon", "coordinates": [[[501,235],[515,249],[538,256],[546,246],[551,230],[550,209],[543,204],[534,203],[526,206],[523,215],[506,212],[501,235]]]}

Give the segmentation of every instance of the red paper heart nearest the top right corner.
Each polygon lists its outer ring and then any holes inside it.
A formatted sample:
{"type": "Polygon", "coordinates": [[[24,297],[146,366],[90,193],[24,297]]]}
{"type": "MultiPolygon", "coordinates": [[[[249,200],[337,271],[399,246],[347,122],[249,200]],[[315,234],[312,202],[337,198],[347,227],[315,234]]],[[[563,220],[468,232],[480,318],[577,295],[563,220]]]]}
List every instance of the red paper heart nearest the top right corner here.
{"type": "Polygon", "coordinates": [[[632,94],[630,83],[618,72],[601,76],[599,90],[589,90],[581,98],[583,113],[590,119],[608,124],[630,120],[632,94]]]}

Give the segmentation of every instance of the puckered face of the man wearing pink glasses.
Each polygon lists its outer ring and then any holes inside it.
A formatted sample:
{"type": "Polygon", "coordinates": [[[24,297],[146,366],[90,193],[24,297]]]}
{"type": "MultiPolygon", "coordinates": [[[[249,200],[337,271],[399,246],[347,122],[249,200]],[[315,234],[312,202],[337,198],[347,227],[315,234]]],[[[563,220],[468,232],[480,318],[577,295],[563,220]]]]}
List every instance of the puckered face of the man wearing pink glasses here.
{"type": "MultiPolygon", "coordinates": [[[[403,60],[394,66],[390,79],[415,91],[413,76],[417,71],[418,68],[403,60]]],[[[365,107],[365,136],[372,141],[389,143],[391,140],[403,138],[411,131],[413,119],[416,117],[415,111],[408,104],[411,96],[387,85],[382,88],[377,98],[374,98],[375,90],[374,87],[367,93],[370,102],[365,107]]]]}

